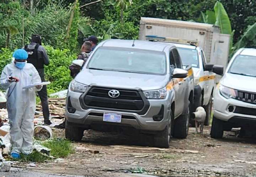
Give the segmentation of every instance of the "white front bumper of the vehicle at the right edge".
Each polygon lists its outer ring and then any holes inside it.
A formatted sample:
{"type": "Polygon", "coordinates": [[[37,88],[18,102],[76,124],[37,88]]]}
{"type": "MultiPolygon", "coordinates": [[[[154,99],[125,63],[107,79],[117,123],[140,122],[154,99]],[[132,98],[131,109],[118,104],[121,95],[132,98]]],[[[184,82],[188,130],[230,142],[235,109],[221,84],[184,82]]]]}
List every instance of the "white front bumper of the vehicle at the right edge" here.
{"type": "Polygon", "coordinates": [[[219,89],[216,89],[214,92],[213,109],[214,117],[223,121],[239,125],[256,122],[256,104],[246,103],[233,98],[227,99],[220,94],[219,89]],[[230,107],[234,109],[230,109],[230,107]]]}

